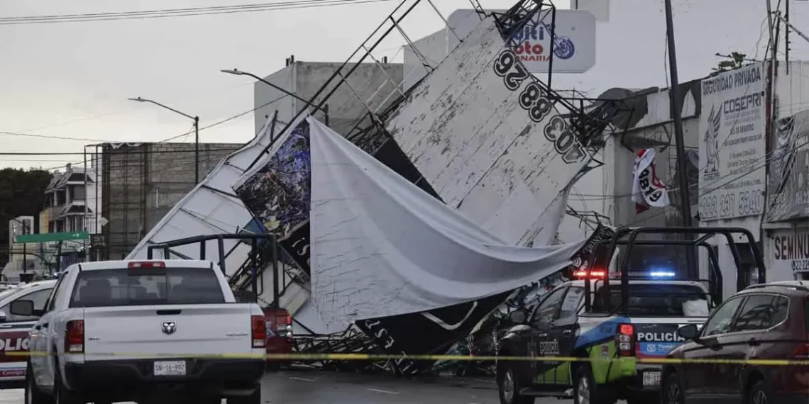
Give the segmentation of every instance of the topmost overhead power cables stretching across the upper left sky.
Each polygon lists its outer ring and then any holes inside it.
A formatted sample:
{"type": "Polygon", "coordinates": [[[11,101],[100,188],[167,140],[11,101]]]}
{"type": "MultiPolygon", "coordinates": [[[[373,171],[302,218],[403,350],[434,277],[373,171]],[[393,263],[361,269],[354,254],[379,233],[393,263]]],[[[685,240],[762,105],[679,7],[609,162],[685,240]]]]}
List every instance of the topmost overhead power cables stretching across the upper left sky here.
{"type": "Polygon", "coordinates": [[[297,0],[292,2],[263,2],[235,6],[207,6],[159,9],[150,11],[119,11],[109,13],[80,13],[61,15],[31,15],[0,18],[0,25],[24,25],[40,23],[84,23],[91,21],[112,21],[120,19],[158,19],[188,17],[193,15],[241,14],[257,11],[290,10],[322,6],[345,6],[390,0],[297,0]]]}

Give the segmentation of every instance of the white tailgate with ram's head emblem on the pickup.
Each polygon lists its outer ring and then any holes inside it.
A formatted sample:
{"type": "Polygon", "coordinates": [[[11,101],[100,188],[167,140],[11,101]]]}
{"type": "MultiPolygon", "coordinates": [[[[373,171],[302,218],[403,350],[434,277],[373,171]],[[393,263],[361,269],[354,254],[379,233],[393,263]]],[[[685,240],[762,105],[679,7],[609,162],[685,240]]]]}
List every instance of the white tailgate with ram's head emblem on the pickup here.
{"type": "Polygon", "coordinates": [[[251,305],[84,309],[85,360],[249,354],[251,305]]]}

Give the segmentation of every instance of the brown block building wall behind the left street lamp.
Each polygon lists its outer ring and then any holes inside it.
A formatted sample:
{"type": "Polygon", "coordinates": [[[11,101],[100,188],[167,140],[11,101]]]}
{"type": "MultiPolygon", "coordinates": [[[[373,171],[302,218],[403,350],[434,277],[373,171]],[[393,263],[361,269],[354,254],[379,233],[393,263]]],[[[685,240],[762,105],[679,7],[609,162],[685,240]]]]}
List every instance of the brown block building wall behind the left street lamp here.
{"type": "MultiPolygon", "coordinates": [[[[200,179],[241,145],[200,145],[200,179]]],[[[102,205],[106,256],[121,259],[194,186],[193,143],[142,143],[104,148],[102,205]]]]}

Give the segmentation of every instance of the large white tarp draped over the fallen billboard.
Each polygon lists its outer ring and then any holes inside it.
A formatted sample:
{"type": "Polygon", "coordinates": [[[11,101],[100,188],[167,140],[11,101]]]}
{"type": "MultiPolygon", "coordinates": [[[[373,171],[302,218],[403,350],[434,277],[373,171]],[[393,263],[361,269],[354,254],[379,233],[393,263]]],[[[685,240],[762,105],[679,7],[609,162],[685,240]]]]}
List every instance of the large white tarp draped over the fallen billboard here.
{"type": "Polygon", "coordinates": [[[506,292],[570,265],[582,242],[508,246],[308,118],[312,298],[327,323],[506,292]]]}

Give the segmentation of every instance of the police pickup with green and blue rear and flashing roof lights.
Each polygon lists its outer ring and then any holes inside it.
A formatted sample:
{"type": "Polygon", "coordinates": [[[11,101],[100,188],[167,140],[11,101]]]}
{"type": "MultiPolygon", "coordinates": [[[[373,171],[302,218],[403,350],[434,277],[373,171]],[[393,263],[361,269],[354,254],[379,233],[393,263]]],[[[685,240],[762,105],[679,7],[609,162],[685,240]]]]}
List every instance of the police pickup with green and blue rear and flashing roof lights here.
{"type": "Polygon", "coordinates": [[[671,280],[673,272],[653,272],[645,280],[629,281],[629,305],[616,314],[620,283],[604,284],[606,271],[577,276],[598,278],[591,282],[595,297],[589,309],[584,307],[585,280],[573,280],[548,292],[530,313],[511,313],[518,325],[498,342],[498,356],[528,360],[498,360],[500,402],[571,396],[576,404],[659,402],[661,365],[638,359],[664,358],[684,343],[677,335],[680,326],[705,322],[713,304],[707,288],[697,281],[671,280]]]}

